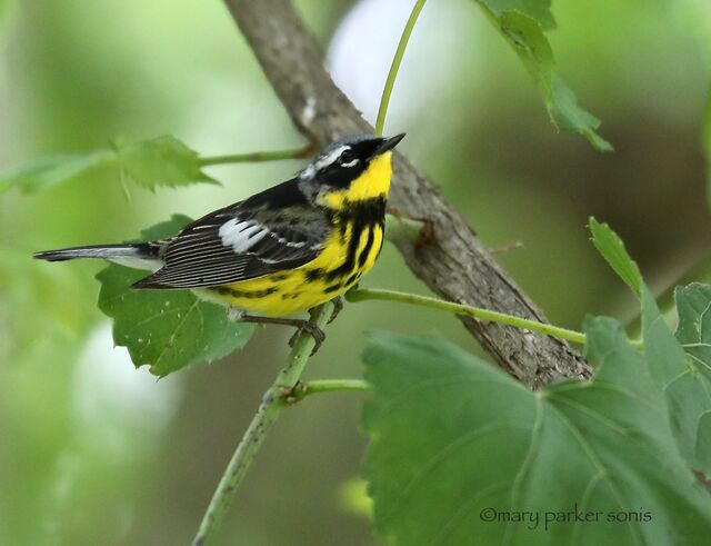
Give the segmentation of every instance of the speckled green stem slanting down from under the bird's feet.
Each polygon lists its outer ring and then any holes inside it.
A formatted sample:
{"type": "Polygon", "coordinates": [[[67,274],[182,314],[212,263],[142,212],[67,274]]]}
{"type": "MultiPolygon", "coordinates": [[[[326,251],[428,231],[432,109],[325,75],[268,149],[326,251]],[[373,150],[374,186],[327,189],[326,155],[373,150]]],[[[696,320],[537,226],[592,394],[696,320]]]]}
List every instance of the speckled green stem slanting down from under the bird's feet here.
{"type": "MultiPolygon", "coordinates": [[[[328,318],[331,316],[332,308],[332,304],[324,304],[321,307],[312,309],[311,321],[319,328],[323,328],[328,318]]],[[[287,403],[283,401],[283,389],[292,388],[299,383],[314,346],[316,340],[308,332],[301,332],[289,354],[287,365],[279,373],[271,387],[264,393],[254,417],[252,417],[247,431],[242,436],[230,463],[224,469],[200,523],[198,534],[192,543],[193,546],[207,546],[209,540],[213,538],[247,470],[261,448],[269,427],[277,420],[281,410],[288,407],[287,403]]]]}

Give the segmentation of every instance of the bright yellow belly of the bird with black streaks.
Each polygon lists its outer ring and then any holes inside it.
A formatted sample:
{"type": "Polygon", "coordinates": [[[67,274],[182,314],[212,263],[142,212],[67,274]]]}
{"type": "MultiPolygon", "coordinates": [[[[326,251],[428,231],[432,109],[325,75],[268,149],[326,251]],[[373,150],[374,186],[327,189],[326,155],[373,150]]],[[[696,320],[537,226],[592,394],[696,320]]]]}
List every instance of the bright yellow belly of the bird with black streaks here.
{"type": "Polygon", "coordinates": [[[333,229],[323,251],[299,268],[216,287],[211,291],[231,307],[273,317],[292,315],[324,304],[356,285],[373,267],[380,252],[383,231],[381,226],[373,225],[358,236],[353,267],[344,268],[349,261],[348,241],[352,238],[351,232],[351,224],[347,226],[346,237],[333,229]],[[332,275],[336,271],[338,276],[332,275]]]}

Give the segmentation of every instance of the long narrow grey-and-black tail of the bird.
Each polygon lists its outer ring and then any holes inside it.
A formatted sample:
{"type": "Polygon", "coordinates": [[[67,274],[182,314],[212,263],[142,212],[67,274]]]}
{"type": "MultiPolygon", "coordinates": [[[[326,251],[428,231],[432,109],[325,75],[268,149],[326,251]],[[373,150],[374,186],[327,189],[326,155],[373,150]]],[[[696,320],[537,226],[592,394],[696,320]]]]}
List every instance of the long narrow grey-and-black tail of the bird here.
{"type": "Polygon", "coordinates": [[[162,265],[160,248],[161,246],[156,242],[91,245],[87,247],[62,248],[59,250],[44,250],[42,252],[36,252],[34,258],[48,261],[100,258],[137,269],[157,269],[162,265]]]}

